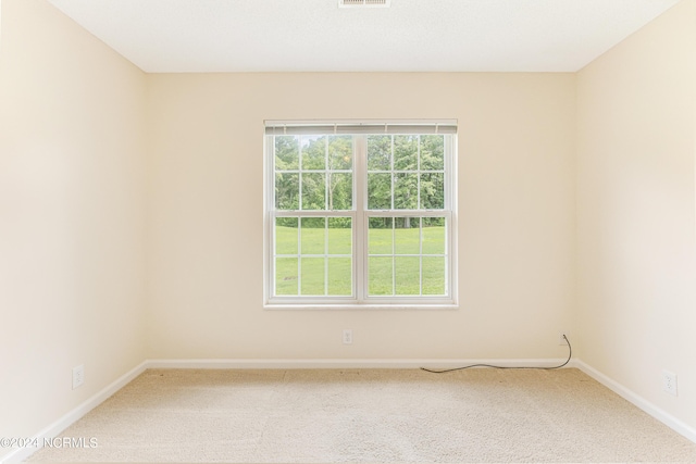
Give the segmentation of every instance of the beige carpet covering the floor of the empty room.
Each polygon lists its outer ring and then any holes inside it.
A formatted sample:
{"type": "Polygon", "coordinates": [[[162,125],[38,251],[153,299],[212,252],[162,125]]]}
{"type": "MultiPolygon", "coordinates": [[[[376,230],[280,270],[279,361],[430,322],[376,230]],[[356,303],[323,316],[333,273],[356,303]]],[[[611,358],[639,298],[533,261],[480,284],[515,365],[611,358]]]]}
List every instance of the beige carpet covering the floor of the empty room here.
{"type": "Polygon", "coordinates": [[[150,369],[44,449],[62,462],[688,462],[696,444],[577,369],[150,369]]]}

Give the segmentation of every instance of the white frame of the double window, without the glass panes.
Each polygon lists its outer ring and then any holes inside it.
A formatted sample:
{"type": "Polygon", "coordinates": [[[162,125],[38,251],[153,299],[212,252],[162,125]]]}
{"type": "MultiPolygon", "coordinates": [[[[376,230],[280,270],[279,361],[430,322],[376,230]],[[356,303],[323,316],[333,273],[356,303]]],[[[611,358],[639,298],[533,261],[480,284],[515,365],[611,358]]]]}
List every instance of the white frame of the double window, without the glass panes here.
{"type": "MultiPolygon", "coordinates": [[[[456,309],[457,289],[457,122],[419,121],[266,121],[264,129],[264,285],[265,309],[456,309]],[[443,210],[368,210],[366,135],[425,135],[445,137],[445,208],[443,210]],[[275,210],[274,136],[351,135],[353,136],[353,209],[351,211],[275,210]],[[274,296],[275,218],[284,216],[351,217],[352,221],[352,296],[274,296]],[[446,227],[446,296],[371,296],[368,297],[368,221],[370,217],[444,216],[446,227]]],[[[420,173],[420,172],[419,172],[420,173]]],[[[301,188],[301,186],[300,186],[301,188]]],[[[421,253],[422,254],[422,253],[421,253]]]]}

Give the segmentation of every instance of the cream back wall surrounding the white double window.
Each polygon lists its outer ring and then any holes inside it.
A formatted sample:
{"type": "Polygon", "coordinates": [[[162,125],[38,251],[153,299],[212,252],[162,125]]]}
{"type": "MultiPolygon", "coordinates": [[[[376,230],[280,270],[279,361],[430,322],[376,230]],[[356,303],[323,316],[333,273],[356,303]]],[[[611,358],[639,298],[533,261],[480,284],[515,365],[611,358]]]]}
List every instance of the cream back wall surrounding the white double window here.
{"type": "Polygon", "coordinates": [[[573,74],[149,75],[158,359],[563,358],[574,310],[573,74]],[[457,311],[268,311],[263,121],[459,121],[457,311]],[[353,344],[341,344],[341,330],[353,344]]]}

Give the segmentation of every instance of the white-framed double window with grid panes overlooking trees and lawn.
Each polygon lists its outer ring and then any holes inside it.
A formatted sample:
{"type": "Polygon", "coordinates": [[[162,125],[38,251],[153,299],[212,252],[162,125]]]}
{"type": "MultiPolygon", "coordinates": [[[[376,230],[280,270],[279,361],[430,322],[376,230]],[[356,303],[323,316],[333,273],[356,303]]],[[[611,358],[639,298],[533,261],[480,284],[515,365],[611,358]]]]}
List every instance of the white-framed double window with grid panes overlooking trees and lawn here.
{"type": "Polygon", "coordinates": [[[450,121],[266,122],[265,303],[456,303],[450,121]]]}

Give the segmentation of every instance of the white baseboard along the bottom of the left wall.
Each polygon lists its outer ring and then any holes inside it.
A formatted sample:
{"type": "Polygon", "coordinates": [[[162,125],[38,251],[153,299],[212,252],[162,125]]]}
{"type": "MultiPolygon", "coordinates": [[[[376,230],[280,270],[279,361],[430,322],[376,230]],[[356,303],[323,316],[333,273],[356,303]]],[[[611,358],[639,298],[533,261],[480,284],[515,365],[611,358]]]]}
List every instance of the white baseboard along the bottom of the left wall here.
{"type": "Polygon", "coordinates": [[[38,448],[20,448],[11,451],[9,454],[2,457],[0,464],[14,464],[20,463],[32,454],[37,452],[44,447],[45,439],[52,439],[58,437],[63,430],[73,425],[75,422],[80,419],[85,414],[89,411],[94,410],[99,404],[103,403],[113,393],[125,387],[130,380],[139,376],[147,369],[147,361],[138,364],[134,368],[132,368],[126,374],[122,375],[110,385],[101,389],[95,396],[89,398],[87,401],[79,404],[77,407],[65,414],[63,417],[55,421],[53,424],[46,427],[44,430],[36,434],[33,439],[36,443],[38,443],[38,448]]]}

